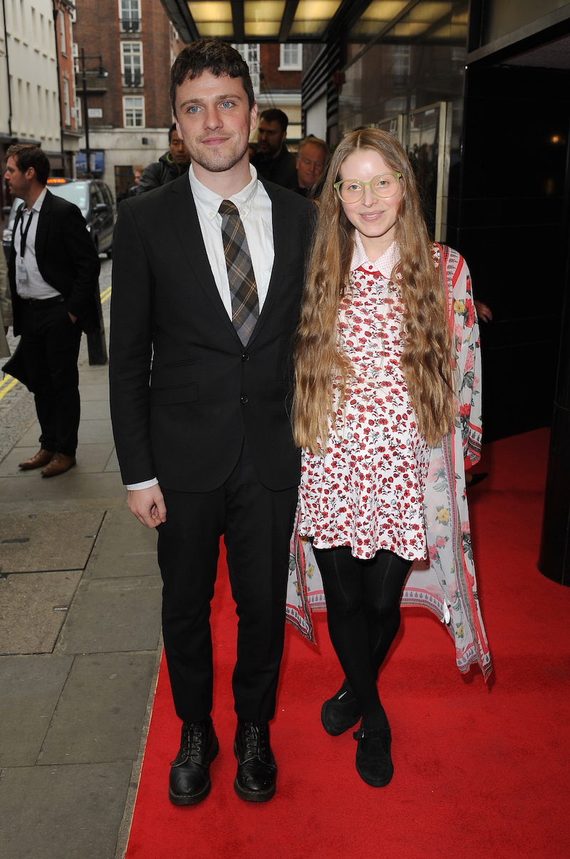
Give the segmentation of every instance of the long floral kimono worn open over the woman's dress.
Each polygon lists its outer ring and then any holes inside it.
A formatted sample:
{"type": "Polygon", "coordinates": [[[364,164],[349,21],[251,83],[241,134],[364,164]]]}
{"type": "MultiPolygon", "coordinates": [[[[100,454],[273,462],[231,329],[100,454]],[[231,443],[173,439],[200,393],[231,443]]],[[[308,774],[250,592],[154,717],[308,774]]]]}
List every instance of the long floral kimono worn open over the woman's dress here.
{"type": "MultiPolygon", "coordinates": [[[[431,448],[423,497],[428,558],[416,562],[403,588],[403,606],[424,606],[446,624],[455,642],[459,671],[478,662],[485,678],[492,670],[477,598],[465,493],[465,466],[481,456],[481,355],[470,275],[463,257],[435,246],[448,299],[455,350],[456,413],[453,431],[431,448]]],[[[299,522],[299,511],[297,522],[299,522]]],[[[323,584],[309,539],[295,527],[291,539],[287,619],[314,642],[312,610],[324,610],[323,584]]]]}

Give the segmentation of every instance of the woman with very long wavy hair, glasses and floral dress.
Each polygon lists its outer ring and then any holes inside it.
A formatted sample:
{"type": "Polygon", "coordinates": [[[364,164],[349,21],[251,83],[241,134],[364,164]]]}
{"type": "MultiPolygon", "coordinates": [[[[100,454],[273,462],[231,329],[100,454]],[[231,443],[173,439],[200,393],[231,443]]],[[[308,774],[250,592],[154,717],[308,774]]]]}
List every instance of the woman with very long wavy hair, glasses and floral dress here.
{"type": "Polygon", "coordinates": [[[323,726],[337,735],[361,720],[356,769],[376,787],[393,772],[377,677],[415,561],[442,568],[441,594],[424,589],[418,601],[431,600],[456,639],[472,632],[460,669],[479,661],[490,670],[475,588],[458,600],[453,591],[475,582],[463,456],[479,456],[477,348],[469,271],[429,240],[402,146],[377,129],[352,132],[324,180],[295,346],[297,533],[311,540],[346,675],[323,705],[323,726]],[[438,481],[443,503],[432,507],[438,481]],[[469,627],[460,635],[457,612],[469,627]]]}

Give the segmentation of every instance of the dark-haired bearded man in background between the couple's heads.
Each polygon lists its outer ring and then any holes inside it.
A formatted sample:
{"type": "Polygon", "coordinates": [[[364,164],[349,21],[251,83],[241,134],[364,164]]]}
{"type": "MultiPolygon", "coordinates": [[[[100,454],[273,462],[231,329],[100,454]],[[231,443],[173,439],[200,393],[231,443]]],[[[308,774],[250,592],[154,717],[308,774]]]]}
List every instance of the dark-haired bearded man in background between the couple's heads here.
{"type": "Polygon", "coordinates": [[[264,110],[259,117],[258,155],[252,158],[252,165],[262,179],[269,179],[276,185],[294,191],[297,187],[297,168],[294,155],[285,145],[288,115],[277,107],[264,110]]]}

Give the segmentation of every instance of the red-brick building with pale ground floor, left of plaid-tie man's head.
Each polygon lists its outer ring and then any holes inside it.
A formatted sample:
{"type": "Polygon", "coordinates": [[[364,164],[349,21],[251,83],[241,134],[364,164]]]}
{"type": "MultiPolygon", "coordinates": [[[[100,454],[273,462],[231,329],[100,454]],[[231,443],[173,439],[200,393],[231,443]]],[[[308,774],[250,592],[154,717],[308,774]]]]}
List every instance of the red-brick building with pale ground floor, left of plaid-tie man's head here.
{"type": "Polygon", "coordinates": [[[74,40],[93,172],[121,198],[132,181],[131,165],[156,161],[167,149],[173,122],[168,76],[183,44],[155,0],[77,0],[74,40]]]}

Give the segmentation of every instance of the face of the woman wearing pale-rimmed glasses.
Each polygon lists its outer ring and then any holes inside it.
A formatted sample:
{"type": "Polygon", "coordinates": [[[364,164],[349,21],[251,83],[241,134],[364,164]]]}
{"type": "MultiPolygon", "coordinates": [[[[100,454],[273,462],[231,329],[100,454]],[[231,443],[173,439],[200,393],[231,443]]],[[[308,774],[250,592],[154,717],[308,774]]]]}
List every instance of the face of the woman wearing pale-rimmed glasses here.
{"type": "MultiPolygon", "coordinates": [[[[375,149],[359,149],[348,155],[340,168],[341,179],[359,179],[368,182],[381,173],[393,173],[382,155],[375,149]]],[[[378,259],[394,241],[397,212],[403,196],[403,180],[393,197],[380,198],[367,185],[358,203],[343,203],[349,221],[361,235],[362,245],[368,259],[378,259]]]]}

